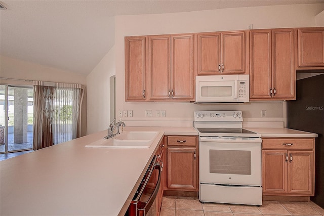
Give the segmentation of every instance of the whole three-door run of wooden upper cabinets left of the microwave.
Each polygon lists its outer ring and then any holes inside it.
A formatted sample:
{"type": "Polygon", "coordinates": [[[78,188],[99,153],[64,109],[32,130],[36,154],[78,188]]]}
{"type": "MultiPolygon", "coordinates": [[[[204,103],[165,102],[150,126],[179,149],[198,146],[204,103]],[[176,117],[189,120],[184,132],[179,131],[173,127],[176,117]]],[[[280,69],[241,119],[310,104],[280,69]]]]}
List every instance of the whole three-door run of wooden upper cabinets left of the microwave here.
{"type": "Polygon", "coordinates": [[[194,101],[193,34],[125,37],[125,101],[194,101]]]}

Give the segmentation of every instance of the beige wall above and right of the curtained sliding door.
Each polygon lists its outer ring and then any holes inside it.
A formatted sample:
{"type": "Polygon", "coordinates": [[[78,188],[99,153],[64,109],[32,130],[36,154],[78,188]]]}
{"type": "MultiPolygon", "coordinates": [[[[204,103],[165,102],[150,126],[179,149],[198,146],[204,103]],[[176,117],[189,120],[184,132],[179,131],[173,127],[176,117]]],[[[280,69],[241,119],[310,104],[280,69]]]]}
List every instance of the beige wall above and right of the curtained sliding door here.
{"type": "MultiPolygon", "coordinates": [[[[86,75],[47,67],[27,61],[0,56],[0,77],[52,82],[68,82],[86,85],[86,75]]],[[[32,85],[32,82],[0,79],[0,84],[32,85]]],[[[86,90],[87,91],[87,90],[86,90]]],[[[82,104],[81,135],[87,132],[87,93],[82,104]]]]}

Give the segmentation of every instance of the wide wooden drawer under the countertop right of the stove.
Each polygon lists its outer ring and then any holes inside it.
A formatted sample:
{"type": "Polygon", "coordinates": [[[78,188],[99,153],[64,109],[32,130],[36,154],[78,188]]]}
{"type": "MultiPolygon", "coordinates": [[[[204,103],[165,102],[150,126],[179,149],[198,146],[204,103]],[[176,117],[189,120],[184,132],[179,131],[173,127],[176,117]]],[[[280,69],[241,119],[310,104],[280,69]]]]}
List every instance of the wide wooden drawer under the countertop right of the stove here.
{"type": "Polygon", "coordinates": [[[313,139],[262,139],[262,149],[313,149],[313,139]]]}

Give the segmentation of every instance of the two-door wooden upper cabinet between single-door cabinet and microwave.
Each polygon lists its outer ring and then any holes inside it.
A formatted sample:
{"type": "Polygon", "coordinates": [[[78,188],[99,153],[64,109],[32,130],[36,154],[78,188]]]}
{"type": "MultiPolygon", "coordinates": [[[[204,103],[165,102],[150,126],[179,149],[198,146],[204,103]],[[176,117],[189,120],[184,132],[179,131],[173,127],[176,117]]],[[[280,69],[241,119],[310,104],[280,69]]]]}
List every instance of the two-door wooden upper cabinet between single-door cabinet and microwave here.
{"type": "Polygon", "coordinates": [[[193,34],[149,36],[149,100],[194,100],[193,34]]]}

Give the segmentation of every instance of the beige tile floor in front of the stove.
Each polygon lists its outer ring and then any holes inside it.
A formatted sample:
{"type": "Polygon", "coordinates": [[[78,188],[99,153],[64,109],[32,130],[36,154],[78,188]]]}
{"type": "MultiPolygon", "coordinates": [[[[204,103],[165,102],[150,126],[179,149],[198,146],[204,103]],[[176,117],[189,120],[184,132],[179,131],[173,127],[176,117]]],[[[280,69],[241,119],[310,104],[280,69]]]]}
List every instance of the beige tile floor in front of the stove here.
{"type": "Polygon", "coordinates": [[[200,203],[198,198],[164,196],[160,216],[324,215],[313,202],[263,201],[262,206],[200,203]]]}

